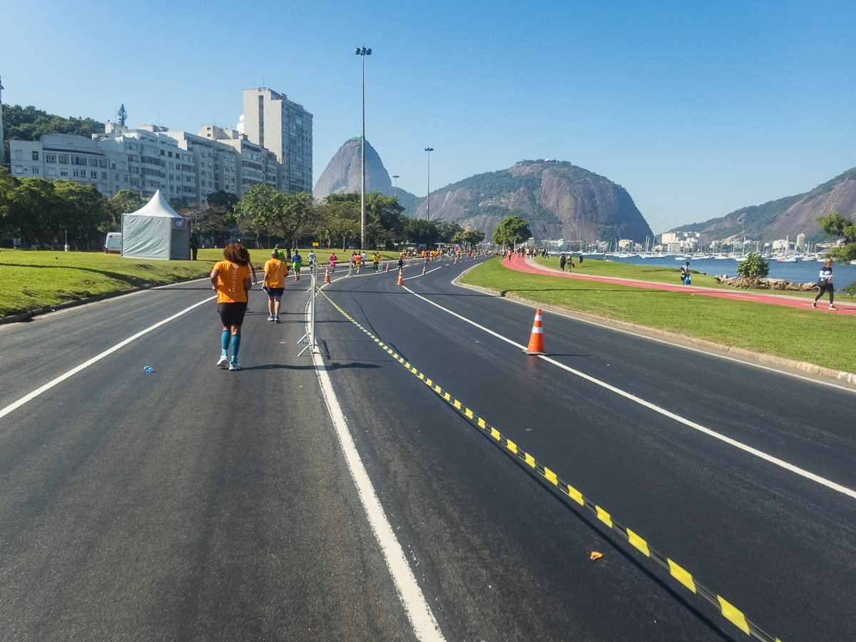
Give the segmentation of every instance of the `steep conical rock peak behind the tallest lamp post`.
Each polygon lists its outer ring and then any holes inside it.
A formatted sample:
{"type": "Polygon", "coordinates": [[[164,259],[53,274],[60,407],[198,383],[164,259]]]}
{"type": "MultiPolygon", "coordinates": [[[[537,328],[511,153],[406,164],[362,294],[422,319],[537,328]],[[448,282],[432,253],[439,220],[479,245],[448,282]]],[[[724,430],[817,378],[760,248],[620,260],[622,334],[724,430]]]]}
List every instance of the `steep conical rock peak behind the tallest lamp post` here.
{"type": "MultiPolygon", "coordinates": [[[[329,194],[359,192],[362,187],[361,153],[359,136],[342,145],[318,177],[312,196],[316,199],[324,199],[329,194]]],[[[413,215],[414,206],[420,200],[419,197],[401,187],[397,190],[393,188],[389,172],[383,167],[383,161],[366,140],[366,193],[372,192],[380,192],[385,196],[395,194],[398,202],[405,207],[404,213],[408,216],[413,215]]]]}

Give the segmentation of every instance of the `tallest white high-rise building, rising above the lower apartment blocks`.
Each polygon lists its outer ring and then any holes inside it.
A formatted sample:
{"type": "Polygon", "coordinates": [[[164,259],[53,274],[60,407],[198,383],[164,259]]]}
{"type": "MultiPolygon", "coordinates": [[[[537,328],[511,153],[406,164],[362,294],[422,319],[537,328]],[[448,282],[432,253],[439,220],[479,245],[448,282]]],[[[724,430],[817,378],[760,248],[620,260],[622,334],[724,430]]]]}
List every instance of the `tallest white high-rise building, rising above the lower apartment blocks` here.
{"type": "Polygon", "coordinates": [[[282,189],[312,193],[312,114],[285,94],[265,87],[244,90],[243,133],[276,154],[282,189]]]}

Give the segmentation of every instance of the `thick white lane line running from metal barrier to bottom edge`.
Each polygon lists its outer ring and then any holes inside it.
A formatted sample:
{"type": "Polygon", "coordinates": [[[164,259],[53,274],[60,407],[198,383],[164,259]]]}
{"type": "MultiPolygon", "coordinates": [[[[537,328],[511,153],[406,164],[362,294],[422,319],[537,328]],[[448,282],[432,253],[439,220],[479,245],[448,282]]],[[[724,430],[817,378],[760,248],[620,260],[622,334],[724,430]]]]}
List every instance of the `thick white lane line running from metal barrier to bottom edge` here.
{"type": "MultiPolygon", "coordinates": [[[[308,307],[308,306],[307,306],[308,307]]],[[[309,331],[308,317],[306,312],[306,331],[309,331]]],[[[354,439],[348,431],[348,421],[345,419],[345,414],[342,413],[342,407],[336,399],[336,393],[333,391],[333,386],[330,383],[330,373],[327,372],[324,361],[320,354],[312,351],[312,362],[315,365],[315,372],[318,372],[318,383],[321,384],[321,393],[324,395],[324,402],[327,404],[327,409],[330,411],[330,419],[336,428],[336,435],[339,437],[339,443],[342,444],[342,454],[345,455],[345,461],[348,463],[348,470],[354,478],[354,484],[357,487],[357,494],[360,496],[360,502],[363,508],[366,508],[366,517],[369,520],[369,525],[372,526],[372,532],[377,538],[377,544],[383,551],[383,558],[386,561],[389,574],[392,575],[392,580],[395,583],[395,589],[398,591],[398,596],[401,599],[401,604],[407,613],[407,618],[413,627],[413,633],[416,638],[425,642],[445,642],[443,633],[437,625],[437,620],[434,619],[434,614],[431,613],[431,608],[425,601],[425,596],[416,583],[416,578],[413,576],[413,570],[407,564],[407,559],[404,556],[404,551],[401,549],[398,539],[395,538],[395,532],[392,530],[389,521],[386,519],[386,514],[383,513],[383,507],[377,499],[372,480],[369,479],[366,473],[366,467],[360,460],[360,454],[357,452],[357,447],[354,444],[354,439]]]]}

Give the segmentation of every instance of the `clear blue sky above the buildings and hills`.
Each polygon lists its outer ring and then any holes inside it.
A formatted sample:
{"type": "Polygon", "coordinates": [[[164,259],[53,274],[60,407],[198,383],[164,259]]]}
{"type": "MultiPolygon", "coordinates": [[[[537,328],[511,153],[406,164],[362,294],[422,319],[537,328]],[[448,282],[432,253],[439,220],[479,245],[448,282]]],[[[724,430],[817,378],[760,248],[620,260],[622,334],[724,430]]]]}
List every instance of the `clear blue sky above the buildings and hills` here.
{"type": "Polygon", "coordinates": [[[3,102],[235,127],[268,86],[314,116],[313,181],[360,134],[425,193],[525,158],[627,188],[655,233],[856,166],[846,2],[31,0],[3,11],[3,102]]]}

